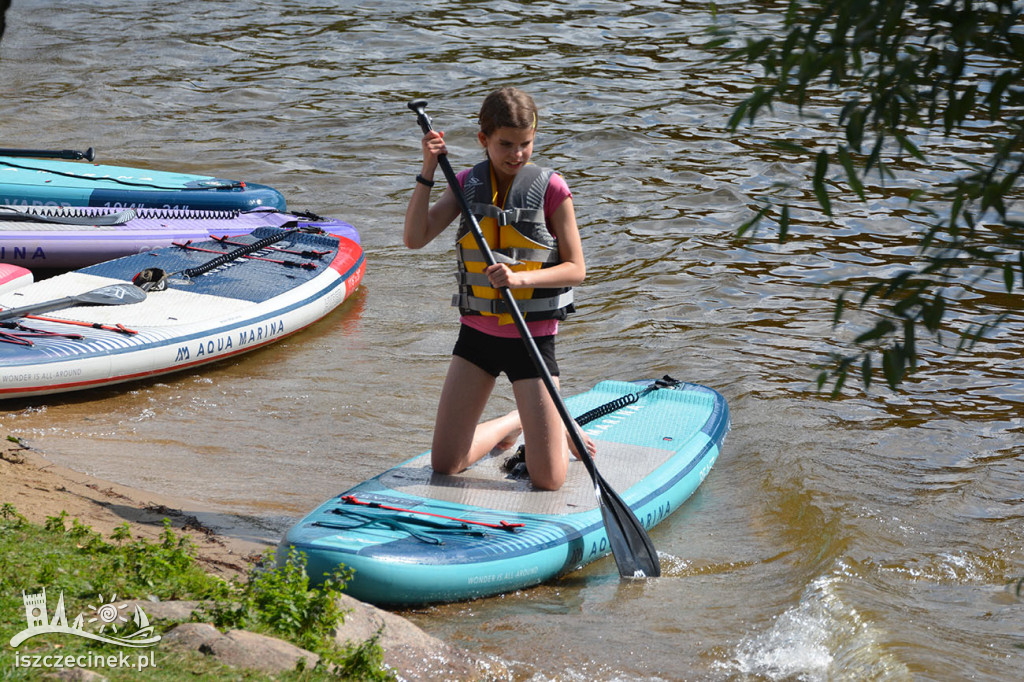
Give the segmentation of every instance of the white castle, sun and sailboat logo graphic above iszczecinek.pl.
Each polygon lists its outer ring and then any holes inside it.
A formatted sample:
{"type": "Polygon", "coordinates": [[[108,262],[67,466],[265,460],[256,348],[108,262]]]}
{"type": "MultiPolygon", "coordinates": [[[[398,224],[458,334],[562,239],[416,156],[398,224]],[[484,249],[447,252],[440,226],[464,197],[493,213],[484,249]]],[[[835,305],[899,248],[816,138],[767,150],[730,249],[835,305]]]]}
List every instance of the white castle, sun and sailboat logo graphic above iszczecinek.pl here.
{"type": "Polygon", "coordinates": [[[25,602],[25,623],[26,629],[10,638],[10,645],[17,647],[22,642],[35,637],[51,633],[75,635],[94,639],[98,642],[117,644],[118,646],[142,647],[153,646],[160,641],[160,635],[154,634],[154,628],[150,625],[150,619],[145,611],[136,604],[135,610],[130,617],[125,612],[128,609],[127,603],[118,604],[118,596],[114,595],[110,601],[103,600],[103,595],[99,595],[96,606],[89,606],[90,612],[79,613],[72,624],[68,625],[68,614],[65,611],[63,590],[57,599],[56,608],[53,610],[53,617],[47,623],[49,612],[46,605],[46,588],[39,594],[27,594],[22,591],[22,600],[25,602]],[[92,626],[96,632],[86,629],[92,626]],[[129,632],[134,626],[134,632],[129,632]],[[108,633],[106,629],[111,632],[108,633]]]}

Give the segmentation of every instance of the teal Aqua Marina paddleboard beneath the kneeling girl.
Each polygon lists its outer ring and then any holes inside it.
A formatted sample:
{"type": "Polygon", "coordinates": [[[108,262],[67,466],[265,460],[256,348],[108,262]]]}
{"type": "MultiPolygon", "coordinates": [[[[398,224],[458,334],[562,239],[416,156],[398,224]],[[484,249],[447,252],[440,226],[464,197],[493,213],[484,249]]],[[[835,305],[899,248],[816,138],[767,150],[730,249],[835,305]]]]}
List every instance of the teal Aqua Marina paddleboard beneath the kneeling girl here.
{"type": "MultiPolygon", "coordinates": [[[[565,403],[597,443],[598,470],[647,528],[696,489],[729,429],[725,399],[696,384],[604,381],[565,403]]],[[[353,597],[406,606],[526,588],[610,552],[583,463],[548,492],[508,473],[509,454],[454,476],[433,473],[429,453],[409,460],[313,510],[278,560],[302,552],[314,581],[348,566],[353,597]]]]}

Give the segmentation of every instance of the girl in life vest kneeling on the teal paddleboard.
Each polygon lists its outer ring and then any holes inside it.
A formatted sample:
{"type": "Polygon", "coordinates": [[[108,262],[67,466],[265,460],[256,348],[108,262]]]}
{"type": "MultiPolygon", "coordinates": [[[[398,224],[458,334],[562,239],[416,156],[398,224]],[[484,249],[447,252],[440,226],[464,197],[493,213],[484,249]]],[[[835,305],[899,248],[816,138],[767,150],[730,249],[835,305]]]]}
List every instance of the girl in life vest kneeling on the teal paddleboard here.
{"type": "MultiPolygon", "coordinates": [[[[532,98],[516,88],[487,95],[477,133],[486,159],[457,176],[498,262],[483,262],[463,218],[456,238],[459,291],[453,300],[462,326],[437,407],[431,464],[438,473],[459,473],[496,447],[511,447],[521,432],[530,481],[555,491],[565,482],[571,443],[499,295],[503,287],[512,291],[557,384],[558,321],[574,310],[571,288],[583,282],[587,265],[565,180],[528,164],[537,114],[532,98]],[[481,424],[502,372],[512,382],[517,410],[481,424]]],[[[406,212],[404,243],[410,249],[429,244],[461,213],[451,187],[430,206],[438,156],[447,153],[444,133],[430,131],[422,146],[423,168],[406,212]]],[[[593,455],[593,441],[584,435],[584,442],[593,455]]]]}

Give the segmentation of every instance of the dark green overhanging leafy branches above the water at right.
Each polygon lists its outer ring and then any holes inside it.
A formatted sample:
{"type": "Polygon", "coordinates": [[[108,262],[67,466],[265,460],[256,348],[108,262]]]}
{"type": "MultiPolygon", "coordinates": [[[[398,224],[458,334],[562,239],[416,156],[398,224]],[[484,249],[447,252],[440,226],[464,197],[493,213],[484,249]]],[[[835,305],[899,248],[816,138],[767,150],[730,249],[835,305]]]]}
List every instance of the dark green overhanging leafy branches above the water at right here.
{"type": "MultiPolygon", "coordinates": [[[[924,140],[970,128],[986,150],[984,163],[908,197],[931,215],[920,259],[854,298],[852,305],[877,322],[854,341],[854,353],[833,356],[819,387],[831,381],[836,394],[856,372],[866,388],[881,372],[895,388],[918,365],[919,329],[942,343],[954,285],[994,275],[1008,294],[1024,289],[1024,222],[1012,210],[1024,172],[1022,13],[1018,0],[791,0],[785,35],[749,39],[730,54],[759,63],[765,76],[735,110],[732,130],[754,124],[776,101],[805,114],[822,88],[839,102],[835,139],[820,148],[778,143],[813,165],[813,193],[826,215],[837,190],[834,171],[845,189],[864,200],[868,176],[883,182],[895,176],[889,157],[927,162],[924,140]]],[[[766,216],[775,218],[785,240],[785,201],[767,200],[739,233],[766,216]]],[[[837,324],[849,310],[849,293],[837,301],[837,324]]],[[[1004,318],[959,330],[957,349],[983,339],[1004,318]]]]}

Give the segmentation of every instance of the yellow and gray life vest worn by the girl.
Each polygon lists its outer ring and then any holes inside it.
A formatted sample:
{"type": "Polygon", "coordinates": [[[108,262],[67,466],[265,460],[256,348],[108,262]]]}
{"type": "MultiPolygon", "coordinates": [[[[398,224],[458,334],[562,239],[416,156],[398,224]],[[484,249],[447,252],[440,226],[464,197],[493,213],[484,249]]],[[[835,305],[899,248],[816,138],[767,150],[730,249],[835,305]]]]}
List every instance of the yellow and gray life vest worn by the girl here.
{"type": "MultiPolygon", "coordinates": [[[[504,204],[496,191],[490,163],[473,167],[463,182],[463,193],[476,217],[487,246],[499,263],[513,271],[536,270],[557,265],[558,243],[544,220],[544,196],[553,171],[532,164],[523,166],[512,181],[504,204]]],[[[452,305],[466,315],[497,315],[502,325],[512,322],[501,292],[483,273],[487,264],[465,217],[456,237],[459,257],[459,293],[452,305]]],[[[575,311],[572,288],[513,289],[512,296],[527,322],[565,319],[575,311]]]]}

